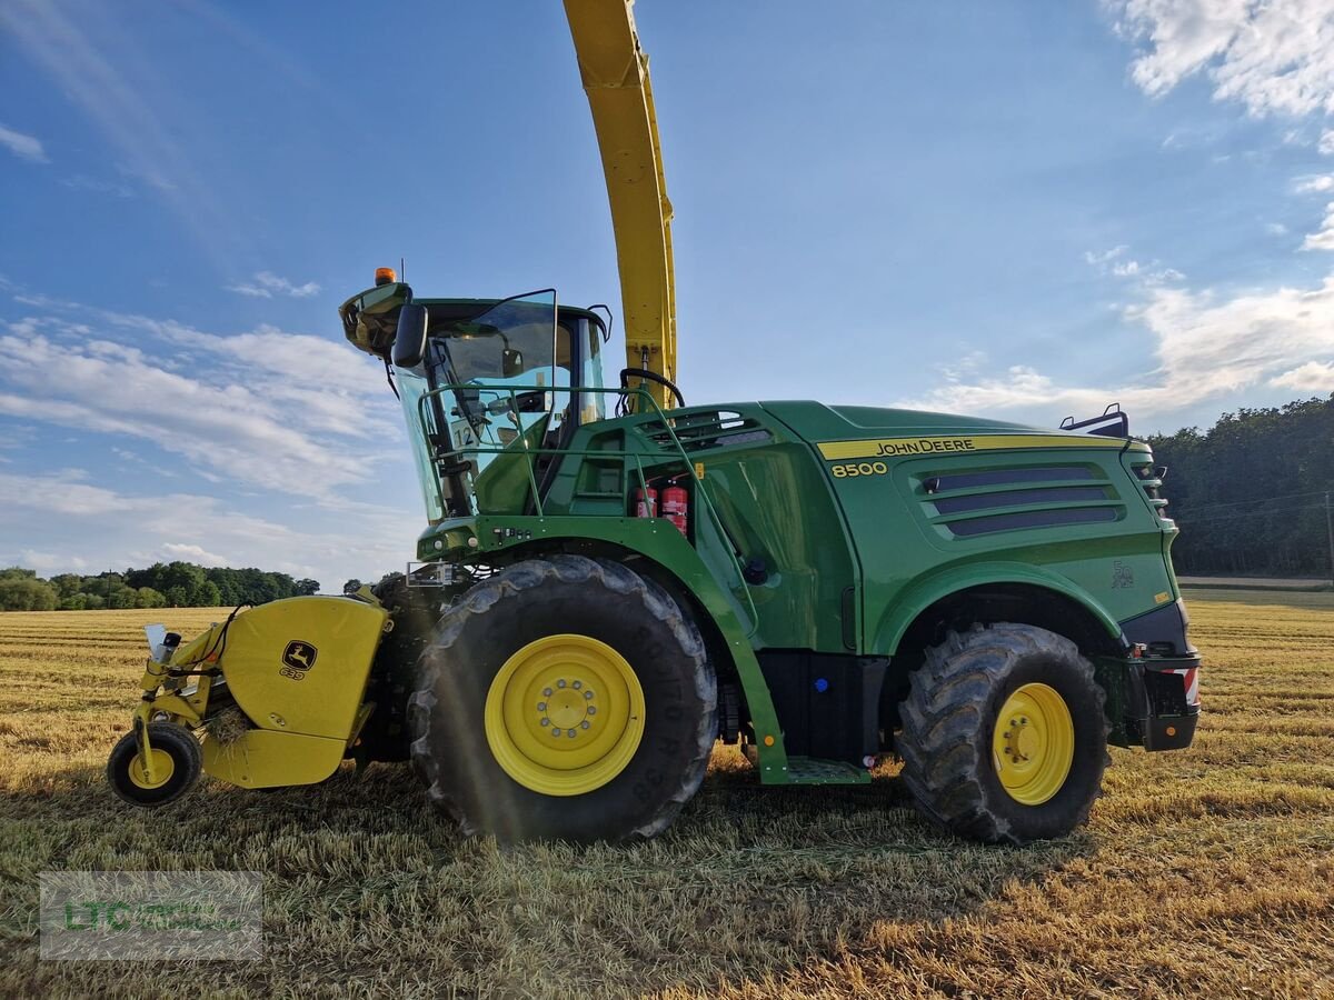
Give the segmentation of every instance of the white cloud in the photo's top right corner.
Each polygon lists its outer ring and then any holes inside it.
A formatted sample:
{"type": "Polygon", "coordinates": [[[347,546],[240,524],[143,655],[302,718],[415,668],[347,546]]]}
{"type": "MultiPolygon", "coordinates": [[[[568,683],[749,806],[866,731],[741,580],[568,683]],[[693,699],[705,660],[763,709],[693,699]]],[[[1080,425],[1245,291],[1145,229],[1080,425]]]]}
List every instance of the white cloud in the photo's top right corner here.
{"type": "Polygon", "coordinates": [[[1142,43],[1131,79],[1149,95],[1203,72],[1215,100],[1241,101],[1254,116],[1334,112],[1327,0],[1113,0],[1111,8],[1121,31],[1142,43]]]}

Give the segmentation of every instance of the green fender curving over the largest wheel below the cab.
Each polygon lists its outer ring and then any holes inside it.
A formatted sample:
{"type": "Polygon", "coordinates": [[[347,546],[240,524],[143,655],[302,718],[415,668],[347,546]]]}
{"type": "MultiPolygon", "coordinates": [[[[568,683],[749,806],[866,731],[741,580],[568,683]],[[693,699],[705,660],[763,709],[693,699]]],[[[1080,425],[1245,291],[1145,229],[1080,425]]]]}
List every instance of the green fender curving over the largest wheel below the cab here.
{"type": "MultiPolygon", "coordinates": [[[[758,768],[764,784],[787,784],[787,751],[768,685],[750,644],[754,623],[740,611],[746,603],[728,592],[704,559],[662,517],[520,517],[479,515],[442,521],[418,539],[419,559],[450,559],[462,553],[499,553],[522,557],[548,549],[552,543],[606,541],[652,561],[695,596],[727,644],[746,705],[755,725],[758,768]],[[766,739],[772,736],[772,744],[766,739]]],[[[744,587],[739,579],[738,587],[744,587]]]]}

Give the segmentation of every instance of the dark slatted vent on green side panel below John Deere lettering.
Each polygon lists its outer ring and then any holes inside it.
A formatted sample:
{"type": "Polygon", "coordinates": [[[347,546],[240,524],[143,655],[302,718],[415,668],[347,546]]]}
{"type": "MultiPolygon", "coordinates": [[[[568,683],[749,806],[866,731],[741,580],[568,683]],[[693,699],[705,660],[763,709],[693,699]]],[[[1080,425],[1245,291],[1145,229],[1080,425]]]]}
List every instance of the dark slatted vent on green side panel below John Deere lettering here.
{"type": "Polygon", "coordinates": [[[1021,467],[922,476],[922,507],[955,537],[1114,521],[1125,504],[1097,467],[1021,467]]]}

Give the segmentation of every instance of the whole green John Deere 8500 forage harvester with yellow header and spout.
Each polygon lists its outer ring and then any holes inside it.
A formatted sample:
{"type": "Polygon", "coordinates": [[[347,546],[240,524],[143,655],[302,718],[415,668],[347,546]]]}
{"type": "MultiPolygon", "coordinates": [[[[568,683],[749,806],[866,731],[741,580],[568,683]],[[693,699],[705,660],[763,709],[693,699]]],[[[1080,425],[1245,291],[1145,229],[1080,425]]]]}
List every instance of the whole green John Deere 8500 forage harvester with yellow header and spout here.
{"type": "Polygon", "coordinates": [[[723,740],[764,785],[862,783],[894,753],[950,829],[1069,832],[1109,743],[1186,747],[1199,712],[1149,448],[1119,411],[1046,431],[686,405],[647,59],[624,0],[566,9],[627,367],[606,385],[607,320],[550,289],[427,299],[379,272],[340,315],[398,384],[419,563],[159,640],[116,791],[157,805],[201,768],[271,788],[411,759],[468,832],[647,837],[723,740]]]}

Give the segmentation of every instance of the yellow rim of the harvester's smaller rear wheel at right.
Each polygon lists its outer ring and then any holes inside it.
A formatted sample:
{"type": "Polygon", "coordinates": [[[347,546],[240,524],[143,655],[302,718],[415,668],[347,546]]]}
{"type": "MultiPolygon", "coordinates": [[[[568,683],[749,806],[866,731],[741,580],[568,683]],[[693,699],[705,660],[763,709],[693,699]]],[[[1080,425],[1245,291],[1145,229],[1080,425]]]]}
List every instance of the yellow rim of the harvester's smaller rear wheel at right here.
{"type": "Polygon", "coordinates": [[[991,760],[1010,797],[1042,805],[1061,791],[1075,757],[1075,727],[1055,688],[1025,684],[1000,705],[991,760]]]}

